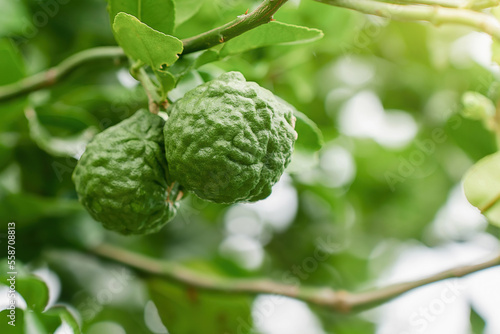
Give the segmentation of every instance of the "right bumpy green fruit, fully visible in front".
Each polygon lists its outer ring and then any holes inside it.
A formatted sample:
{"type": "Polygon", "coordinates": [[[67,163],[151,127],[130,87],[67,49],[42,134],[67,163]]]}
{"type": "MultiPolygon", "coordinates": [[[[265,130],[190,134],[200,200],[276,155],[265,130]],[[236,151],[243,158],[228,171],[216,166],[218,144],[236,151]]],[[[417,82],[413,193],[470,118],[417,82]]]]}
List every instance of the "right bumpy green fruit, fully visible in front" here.
{"type": "Polygon", "coordinates": [[[165,123],[170,175],[217,203],[266,198],[290,162],[293,111],[229,72],[186,93],[165,123]]]}

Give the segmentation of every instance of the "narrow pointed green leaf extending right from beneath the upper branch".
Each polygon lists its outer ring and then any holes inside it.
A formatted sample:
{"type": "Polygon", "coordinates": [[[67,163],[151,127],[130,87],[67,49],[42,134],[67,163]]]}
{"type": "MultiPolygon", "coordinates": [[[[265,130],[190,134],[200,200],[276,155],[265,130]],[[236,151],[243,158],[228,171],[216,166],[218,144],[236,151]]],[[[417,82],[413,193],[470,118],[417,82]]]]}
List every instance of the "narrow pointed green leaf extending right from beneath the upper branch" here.
{"type": "Polygon", "coordinates": [[[220,54],[225,57],[269,45],[312,42],[321,37],[321,30],[273,21],[229,40],[220,54]]]}

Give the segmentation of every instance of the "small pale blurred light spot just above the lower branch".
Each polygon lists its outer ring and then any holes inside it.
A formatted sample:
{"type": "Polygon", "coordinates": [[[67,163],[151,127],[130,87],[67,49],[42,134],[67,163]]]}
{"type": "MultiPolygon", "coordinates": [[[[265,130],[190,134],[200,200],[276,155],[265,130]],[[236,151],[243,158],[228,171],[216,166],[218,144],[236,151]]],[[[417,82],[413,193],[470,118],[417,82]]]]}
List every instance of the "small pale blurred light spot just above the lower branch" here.
{"type": "Polygon", "coordinates": [[[220,244],[219,251],[224,257],[249,270],[257,269],[264,260],[262,245],[255,239],[243,235],[227,237],[220,244]]]}

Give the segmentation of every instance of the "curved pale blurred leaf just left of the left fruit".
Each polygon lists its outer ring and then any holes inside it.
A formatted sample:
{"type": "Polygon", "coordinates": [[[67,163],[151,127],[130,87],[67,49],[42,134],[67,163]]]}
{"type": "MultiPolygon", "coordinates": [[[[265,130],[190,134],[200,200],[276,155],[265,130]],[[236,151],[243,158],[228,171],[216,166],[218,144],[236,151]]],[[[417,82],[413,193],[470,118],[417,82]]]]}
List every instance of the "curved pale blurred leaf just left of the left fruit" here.
{"type": "Polygon", "coordinates": [[[27,109],[25,115],[33,141],[41,149],[54,156],[79,157],[85,150],[86,144],[98,132],[97,128],[90,127],[72,136],[54,137],[40,123],[35,110],[27,109]]]}

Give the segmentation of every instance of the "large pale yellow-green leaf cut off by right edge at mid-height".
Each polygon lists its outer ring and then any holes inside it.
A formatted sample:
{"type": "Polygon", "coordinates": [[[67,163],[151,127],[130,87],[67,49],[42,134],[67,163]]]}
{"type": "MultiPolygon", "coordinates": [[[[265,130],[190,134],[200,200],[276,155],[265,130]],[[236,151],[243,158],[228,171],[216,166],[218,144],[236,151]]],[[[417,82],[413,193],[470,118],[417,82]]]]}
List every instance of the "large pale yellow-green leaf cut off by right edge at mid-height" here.
{"type": "Polygon", "coordinates": [[[500,152],[479,160],[464,176],[467,200],[500,226],[500,152]]]}

